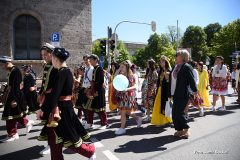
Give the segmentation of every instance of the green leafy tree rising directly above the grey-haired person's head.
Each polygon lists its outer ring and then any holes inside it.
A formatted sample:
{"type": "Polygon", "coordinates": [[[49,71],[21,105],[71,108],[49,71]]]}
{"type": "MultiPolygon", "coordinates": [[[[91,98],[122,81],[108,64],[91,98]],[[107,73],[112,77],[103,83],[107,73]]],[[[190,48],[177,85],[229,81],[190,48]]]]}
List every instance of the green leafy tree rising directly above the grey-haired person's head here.
{"type": "Polygon", "coordinates": [[[207,52],[207,35],[199,26],[189,26],[182,38],[182,47],[192,49],[193,60],[201,60],[202,55],[207,52]]]}

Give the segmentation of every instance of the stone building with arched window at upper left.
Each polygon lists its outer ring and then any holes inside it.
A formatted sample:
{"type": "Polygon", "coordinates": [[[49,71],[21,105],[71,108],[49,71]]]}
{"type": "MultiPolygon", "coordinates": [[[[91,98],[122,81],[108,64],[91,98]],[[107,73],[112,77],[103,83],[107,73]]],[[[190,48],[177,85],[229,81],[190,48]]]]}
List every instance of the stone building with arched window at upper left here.
{"type": "MultiPolygon", "coordinates": [[[[1,0],[0,55],[14,64],[32,64],[41,75],[40,47],[60,33],[60,46],[71,54],[68,64],[79,64],[92,46],[91,0],[1,0]]],[[[0,80],[6,73],[0,69],[0,80]]]]}

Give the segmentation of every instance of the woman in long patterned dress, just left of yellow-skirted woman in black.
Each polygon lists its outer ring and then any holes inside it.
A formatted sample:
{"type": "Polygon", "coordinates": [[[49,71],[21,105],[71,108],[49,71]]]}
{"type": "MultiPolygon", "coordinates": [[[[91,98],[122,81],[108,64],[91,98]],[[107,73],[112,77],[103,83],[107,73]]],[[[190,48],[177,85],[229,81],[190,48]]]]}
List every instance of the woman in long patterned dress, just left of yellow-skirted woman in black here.
{"type": "Polygon", "coordinates": [[[150,112],[154,106],[158,80],[158,72],[155,65],[156,62],[153,59],[148,61],[149,72],[147,74],[146,100],[144,101],[144,105],[147,107],[147,117],[143,121],[151,121],[150,112]]]}

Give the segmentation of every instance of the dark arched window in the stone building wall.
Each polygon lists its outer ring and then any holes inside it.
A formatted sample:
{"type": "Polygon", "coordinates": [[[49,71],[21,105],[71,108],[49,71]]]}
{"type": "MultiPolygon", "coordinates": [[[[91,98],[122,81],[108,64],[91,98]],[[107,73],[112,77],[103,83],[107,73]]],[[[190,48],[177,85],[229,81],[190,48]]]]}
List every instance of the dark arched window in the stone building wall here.
{"type": "Polygon", "coordinates": [[[20,15],[14,20],[14,59],[40,60],[41,25],[30,15],[20,15]]]}

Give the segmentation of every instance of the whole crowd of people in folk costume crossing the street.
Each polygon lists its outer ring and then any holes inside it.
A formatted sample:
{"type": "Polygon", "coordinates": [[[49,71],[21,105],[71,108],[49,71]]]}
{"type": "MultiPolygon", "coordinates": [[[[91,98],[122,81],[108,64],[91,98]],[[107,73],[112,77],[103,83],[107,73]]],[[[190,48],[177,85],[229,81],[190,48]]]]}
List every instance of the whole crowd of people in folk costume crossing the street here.
{"type": "Polygon", "coordinates": [[[177,51],[174,66],[164,55],[159,62],[150,59],[140,86],[137,66],[129,60],[120,64],[113,62],[109,70],[104,70],[97,55],[84,55],[83,62],[72,73],[66,63],[70,53],[64,48],[46,43],[40,52],[45,64],[39,91],[31,66],[23,65],[20,70],[12,63],[11,57],[0,57],[2,66],[9,72],[2,115],[2,120],[6,120],[7,137],[2,141],[19,139],[18,124],[26,126],[28,133],[34,121],[28,120],[27,115],[36,113],[43,125],[38,140],[48,144],[40,153],[51,154],[52,160],[63,159],[63,147],[89,159],[95,158],[95,146],[88,131],[95,127],[95,114],[100,119],[101,127],[98,129],[109,127],[106,99],[109,110],[120,115],[116,135],[126,134],[126,121],[132,117],[137,127],[141,127],[142,121],[156,127],[173,125],[176,130],[174,136],[180,138],[190,135],[187,123],[189,107],[196,107],[200,116],[204,116],[208,109],[226,110],[229,77],[234,92],[238,92],[237,102],[240,101],[240,65],[234,66],[232,74],[229,74],[222,56],[216,57],[214,67],[209,70],[203,62],[190,61],[187,50],[177,51]],[[124,91],[116,90],[113,85],[119,74],[129,81],[124,91]],[[141,104],[137,102],[140,90],[141,104]],[[209,92],[213,94],[212,103],[209,92]],[[220,107],[216,106],[219,97],[222,101],[220,107]],[[142,112],[143,118],[136,114],[137,110],[142,112]]]}

